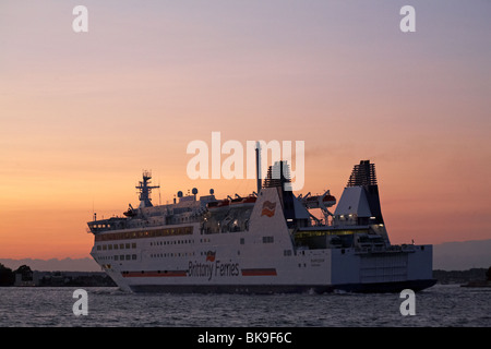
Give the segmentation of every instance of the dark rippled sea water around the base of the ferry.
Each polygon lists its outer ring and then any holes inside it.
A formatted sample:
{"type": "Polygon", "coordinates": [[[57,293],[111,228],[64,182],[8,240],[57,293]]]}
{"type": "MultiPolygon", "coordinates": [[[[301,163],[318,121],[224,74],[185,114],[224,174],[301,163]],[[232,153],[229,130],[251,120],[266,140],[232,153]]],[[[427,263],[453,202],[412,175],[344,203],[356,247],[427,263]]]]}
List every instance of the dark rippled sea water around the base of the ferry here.
{"type": "Polygon", "coordinates": [[[85,288],[88,314],[75,316],[76,288],[0,288],[0,326],[491,326],[491,289],[436,285],[404,299],[383,294],[134,294],[85,288]]]}

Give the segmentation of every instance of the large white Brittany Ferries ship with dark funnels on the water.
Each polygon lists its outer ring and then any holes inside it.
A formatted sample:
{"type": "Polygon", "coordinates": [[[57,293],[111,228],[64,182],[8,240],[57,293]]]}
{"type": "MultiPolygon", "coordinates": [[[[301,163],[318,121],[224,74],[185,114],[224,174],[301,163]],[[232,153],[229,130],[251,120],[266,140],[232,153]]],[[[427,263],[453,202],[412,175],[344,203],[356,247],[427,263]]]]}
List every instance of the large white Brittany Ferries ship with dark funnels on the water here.
{"type": "Polygon", "coordinates": [[[391,244],[369,160],[355,166],[337,205],[330,191],[286,190],[285,161],[248,196],[216,198],[213,189],[199,196],[193,189],[154,206],[158,186],[151,180],[144,171],[137,208],[87,222],[91,255],[122,290],[399,292],[435,284],[432,245],[391,244]]]}

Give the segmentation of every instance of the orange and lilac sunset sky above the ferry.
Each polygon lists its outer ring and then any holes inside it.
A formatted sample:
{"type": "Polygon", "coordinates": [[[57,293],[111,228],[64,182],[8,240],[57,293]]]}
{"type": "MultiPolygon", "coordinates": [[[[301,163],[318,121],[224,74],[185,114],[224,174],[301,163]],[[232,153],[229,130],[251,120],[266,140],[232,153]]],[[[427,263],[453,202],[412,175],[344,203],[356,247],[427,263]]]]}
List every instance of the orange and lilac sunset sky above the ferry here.
{"type": "Polygon", "coordinates": [[[370,159],[392,243],[490,239],[490,17],[488,0],[2,0],[0,256],[88,256],[86,222],[136,206],[143,169],[154,204],[251,193],[189,178],[212,132],[303,141],[296,194],[339,198],[370,159]]]}

